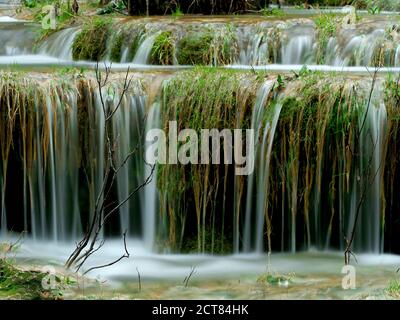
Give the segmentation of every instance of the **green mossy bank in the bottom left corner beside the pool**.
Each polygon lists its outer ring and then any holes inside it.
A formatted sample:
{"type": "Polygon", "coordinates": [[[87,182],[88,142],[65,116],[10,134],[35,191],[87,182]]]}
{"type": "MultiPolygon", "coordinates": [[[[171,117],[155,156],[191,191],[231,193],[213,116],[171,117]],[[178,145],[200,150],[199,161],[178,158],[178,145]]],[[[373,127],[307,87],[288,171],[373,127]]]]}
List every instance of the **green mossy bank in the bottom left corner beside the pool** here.
{"type": "Polygon", "coordinates": [[[0,297],[26,300],[55,300],[62,297],[62,280],[55,277],[54,289],[44,289],[42,281],[46,281],[47,273],[39,271],[23,271],[14,267],[6,259],[0,259],[0,297]]]}

